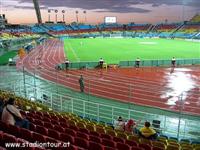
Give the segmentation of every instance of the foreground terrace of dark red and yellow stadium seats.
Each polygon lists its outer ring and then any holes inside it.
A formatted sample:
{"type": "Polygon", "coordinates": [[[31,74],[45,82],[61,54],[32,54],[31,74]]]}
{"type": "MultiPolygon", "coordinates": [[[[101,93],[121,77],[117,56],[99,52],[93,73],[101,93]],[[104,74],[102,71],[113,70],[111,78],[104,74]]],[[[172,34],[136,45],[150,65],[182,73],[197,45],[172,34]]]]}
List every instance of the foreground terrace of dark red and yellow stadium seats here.
{"type": "MultiPolygon", "coordinates": [[[[1,91],[0,96],[5,100],[14,95],[1,91]]],[[[35,141],[70,142],[69,149],[80,150],[200,150],[199,142],[191,142],[187,139],[178,141],[167,136],[160,136],[155,141],[143,139],[136,134],[113,130],[110,124],[90,120],[90,118],[80,118],[73,113],[55,112],[40,103],[20,97],[16,97],[16,104],[21,109],[21,114],[31,122],[30,130],[0,121],[0,149],[2,150],[8,142],[33,143],[35,141]]]]}

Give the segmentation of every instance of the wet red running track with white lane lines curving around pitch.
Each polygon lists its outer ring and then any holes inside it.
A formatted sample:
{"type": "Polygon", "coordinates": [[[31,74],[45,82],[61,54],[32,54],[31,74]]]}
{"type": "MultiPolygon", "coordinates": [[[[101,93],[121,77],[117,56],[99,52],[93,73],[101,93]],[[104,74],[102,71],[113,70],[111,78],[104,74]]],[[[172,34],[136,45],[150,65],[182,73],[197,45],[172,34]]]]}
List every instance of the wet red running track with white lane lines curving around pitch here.
{"type": "Polygon", "coordinates": [[[76,91],[82,74],[85,92],[91,95],[200,115],[198,66],[173,70],[156,67],[56,71],[56,64],[64,61],[63,42],[52,39],[32,50],[17,66],[76,91]]]}

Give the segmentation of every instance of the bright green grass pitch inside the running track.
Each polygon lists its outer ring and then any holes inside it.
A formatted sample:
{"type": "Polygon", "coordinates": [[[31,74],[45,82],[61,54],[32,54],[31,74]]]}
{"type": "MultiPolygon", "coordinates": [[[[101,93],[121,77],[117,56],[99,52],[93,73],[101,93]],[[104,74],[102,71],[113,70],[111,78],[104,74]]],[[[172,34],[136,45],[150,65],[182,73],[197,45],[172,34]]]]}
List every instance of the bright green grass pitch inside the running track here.
{"type": "Polygon", "coordinates": [[[71,62],[98,61],[108,64],[123,60],[200,58],[200,43],[172,39],[95,38],[65,39],[65,54],[71,62]]]}

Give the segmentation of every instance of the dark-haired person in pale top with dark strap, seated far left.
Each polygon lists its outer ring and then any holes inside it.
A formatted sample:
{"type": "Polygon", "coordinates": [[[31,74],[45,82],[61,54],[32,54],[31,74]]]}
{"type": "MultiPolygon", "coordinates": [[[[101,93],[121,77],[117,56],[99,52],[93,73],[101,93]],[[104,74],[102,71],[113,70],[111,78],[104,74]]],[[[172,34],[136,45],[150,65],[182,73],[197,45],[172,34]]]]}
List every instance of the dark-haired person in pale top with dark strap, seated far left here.
{"type": "Polygon", "coordinates": [[[29,129],[29,121],[24,119],[15,106],[15,99],[9,98],[3,108],[1,120],[10,125],[29,129]]]}

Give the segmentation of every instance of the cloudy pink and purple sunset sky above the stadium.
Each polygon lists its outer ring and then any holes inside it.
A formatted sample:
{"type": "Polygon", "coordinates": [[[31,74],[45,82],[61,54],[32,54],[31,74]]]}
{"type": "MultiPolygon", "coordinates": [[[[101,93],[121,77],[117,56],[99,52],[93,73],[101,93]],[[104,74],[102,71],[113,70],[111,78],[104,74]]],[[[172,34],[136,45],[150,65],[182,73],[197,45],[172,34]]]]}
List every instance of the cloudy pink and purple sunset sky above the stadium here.
{"type": "MultiPolygon", "coordinates": [[[[166,20],[180,22],[190,20],[200,14],[200,0],[38,0],[42,20],[55,21],[55,10],[58,10],[58,21],[77,20],[81,23],[98,24],[104,17],[115,16],[118,23],[161,23],[166,20]],[[51,13],[48,13],[51,10],[51,13]],[[76,11],[78,15],[76,16],[76,11]],[[86,11],[86,13],[83,13],[86,11]]],[[[0,0],[0,13],[5,14],[9,23],[37,23],[32,0],[0,0]]]]}

